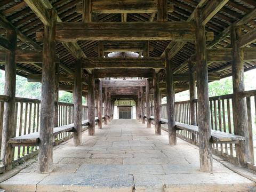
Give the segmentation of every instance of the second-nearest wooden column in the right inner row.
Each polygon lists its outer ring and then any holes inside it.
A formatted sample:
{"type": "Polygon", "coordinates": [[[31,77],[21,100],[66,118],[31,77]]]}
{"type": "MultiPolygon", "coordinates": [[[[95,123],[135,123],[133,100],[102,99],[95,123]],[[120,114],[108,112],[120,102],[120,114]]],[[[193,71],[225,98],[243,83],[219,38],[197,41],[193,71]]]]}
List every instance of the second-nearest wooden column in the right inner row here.
{"type": "Polygon", "coordinates": [[[175,129],[175,108],[174,108],[174,89],[173,89],[173,71],[172,63],[168,59],[166,51],[166,99],[167,99],[167,119],[168,119],[168,132],[170,145],[176,145],[176,129],[175,129]]]}

